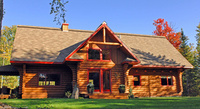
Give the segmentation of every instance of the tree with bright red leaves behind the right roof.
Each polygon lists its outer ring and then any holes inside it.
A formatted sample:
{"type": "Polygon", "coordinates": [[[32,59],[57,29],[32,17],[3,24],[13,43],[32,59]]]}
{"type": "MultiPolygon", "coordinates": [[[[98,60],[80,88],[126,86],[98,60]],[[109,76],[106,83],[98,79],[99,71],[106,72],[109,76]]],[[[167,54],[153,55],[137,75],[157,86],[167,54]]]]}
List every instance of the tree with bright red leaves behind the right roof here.
{"type": "Polygon", "coordinates": [[[181,33],[175,32],[172,27],[168,25],[167,21],[164,21],[164,19],[157,19],[154,20],[153,23],[154,26],[156,26],[156,30],[153,32],[157,36],[165,36],[167,40],[176,48],[178,49],[181,44],[181,33]]]}

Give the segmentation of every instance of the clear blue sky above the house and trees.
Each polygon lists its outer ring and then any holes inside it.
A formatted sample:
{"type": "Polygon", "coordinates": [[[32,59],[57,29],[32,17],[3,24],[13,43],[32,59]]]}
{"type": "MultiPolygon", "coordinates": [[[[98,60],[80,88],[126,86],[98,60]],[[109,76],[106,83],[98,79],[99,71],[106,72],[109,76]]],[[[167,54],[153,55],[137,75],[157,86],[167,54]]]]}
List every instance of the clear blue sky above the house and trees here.
{"type": "MultiPolygon", "coordinates": [[[[196,43],[200,0],[68,0],[70,29],[96,30],[106,21],[113,32],[153,35],[153,20],[163,18],[176,32],[181,28],[196,43]]],[[[31,25],[60,28],[50,15],[51,0],[4,0],[3,26],[31,25]]]]}

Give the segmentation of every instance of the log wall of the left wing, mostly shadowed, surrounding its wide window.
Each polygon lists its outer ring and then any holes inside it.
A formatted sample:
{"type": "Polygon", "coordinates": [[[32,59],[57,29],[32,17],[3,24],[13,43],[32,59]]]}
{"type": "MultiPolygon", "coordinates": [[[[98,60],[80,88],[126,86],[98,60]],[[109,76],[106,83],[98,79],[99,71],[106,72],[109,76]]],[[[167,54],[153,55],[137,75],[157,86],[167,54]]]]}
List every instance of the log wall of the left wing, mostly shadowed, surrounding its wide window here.
{"type": "Polygon", "coordinates": [[[22,98],[47,98],[64,97],[67,89],[70,89],[72,82],[72,71],[67,66],[56,65],[25,65],[16,66],[20,72],[19,92],[22,98]],[[22,69],[22,70],[21,70],[22,69]],[[24,71],[26,71],[24,73],[24,71]],[[60,74],[59,86],[38,86],[39,73],[60,74]],[[23,84],[25,86],[23,86],[23,84]]]}

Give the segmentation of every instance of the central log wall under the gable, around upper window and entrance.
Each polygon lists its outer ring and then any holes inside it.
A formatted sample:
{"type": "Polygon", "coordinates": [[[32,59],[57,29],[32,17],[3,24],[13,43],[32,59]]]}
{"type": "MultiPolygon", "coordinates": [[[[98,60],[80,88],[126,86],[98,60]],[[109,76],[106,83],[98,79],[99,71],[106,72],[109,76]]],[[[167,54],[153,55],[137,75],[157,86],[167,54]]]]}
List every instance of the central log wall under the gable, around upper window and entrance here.
{"type": "Polygon", "coordinates": [[[88,84],[88,69],[110,69],[112,93],[119,93],[119,85],[124,84],[123,66],[121,62],[126,58],[126,55],[121,52],[120,48],[118,48],[117,46],[88,44],[84,48],[80,49],[77,54],[84,59],[83,62],[78,64],[77,69],[77,84],[79,85],[79,90],[81,94],[87,94],[86,86],[88,84]],[[88,48],[109,49],[111,53],[111,60],[88,60],[88,48]]]}

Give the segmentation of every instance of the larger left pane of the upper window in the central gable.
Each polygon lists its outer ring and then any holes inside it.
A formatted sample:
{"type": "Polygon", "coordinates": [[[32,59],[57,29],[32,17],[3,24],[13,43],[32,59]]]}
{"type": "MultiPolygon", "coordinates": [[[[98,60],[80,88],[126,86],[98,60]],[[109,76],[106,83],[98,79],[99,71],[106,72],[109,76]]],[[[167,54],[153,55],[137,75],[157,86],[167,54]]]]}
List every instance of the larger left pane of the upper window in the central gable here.
{"type": "Polygon", "coordinates": [[[100,60],[100,50],[89,49],[88,50],[88,59],[100,60]]]}

